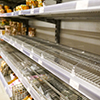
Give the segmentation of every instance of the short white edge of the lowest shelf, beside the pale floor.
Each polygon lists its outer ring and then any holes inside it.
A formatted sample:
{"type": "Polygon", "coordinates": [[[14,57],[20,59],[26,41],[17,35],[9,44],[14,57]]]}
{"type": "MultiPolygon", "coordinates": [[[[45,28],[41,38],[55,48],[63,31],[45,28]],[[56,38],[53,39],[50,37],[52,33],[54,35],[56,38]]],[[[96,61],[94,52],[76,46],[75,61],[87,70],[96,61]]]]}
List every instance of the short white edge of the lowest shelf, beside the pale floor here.
{"type": "Polygon", "coordinates": [[[2,81],[2,84],[4,85],[7,94],[9,95],[9,97],[12,97],[12,91],[9,89],[9,86],[1,72],[0,72],[0,79],[2,81]]]}

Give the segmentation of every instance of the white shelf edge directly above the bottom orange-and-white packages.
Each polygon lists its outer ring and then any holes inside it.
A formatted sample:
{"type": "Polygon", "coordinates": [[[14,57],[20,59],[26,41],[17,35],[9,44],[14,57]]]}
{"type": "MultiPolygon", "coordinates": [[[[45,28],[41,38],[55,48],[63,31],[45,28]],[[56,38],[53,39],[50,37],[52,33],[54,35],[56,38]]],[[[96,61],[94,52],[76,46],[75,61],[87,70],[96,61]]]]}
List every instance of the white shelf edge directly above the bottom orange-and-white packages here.
{"type": "Polygon", "coordinates": [[[35,99],[35,100],[40,100],[41,96],[37,93],[37,91],[30,85],[28,80],[20,73],[20,71],[15,67],[14,63],[10,61],[10,59],[7,58],[7,55],[5,55],[1,51],[1,56],[2,58],[6,61],[6,63],[9,65],[9,67],[12,69],[12,71],[17,75],[17,77],[20,79],[22,84],[25,86],[27,91],[30,93],[30,95],[35,99]]]}

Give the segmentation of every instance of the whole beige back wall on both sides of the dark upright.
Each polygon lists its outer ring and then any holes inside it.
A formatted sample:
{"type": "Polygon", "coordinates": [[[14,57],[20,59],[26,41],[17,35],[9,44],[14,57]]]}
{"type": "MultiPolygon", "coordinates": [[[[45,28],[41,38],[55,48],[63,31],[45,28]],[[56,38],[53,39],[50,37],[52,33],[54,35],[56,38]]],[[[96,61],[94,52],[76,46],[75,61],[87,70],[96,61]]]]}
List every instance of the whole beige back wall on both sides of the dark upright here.
{"type": "MultiPolygon", "coordinates": [[[[55,42],[55,25],[38,20],[30,20],[30,25],[36,27],[36,36],[55,42]]],[[[81,49],[100,55],[100,21],[62,21],[62,45],[81,49]]]]}

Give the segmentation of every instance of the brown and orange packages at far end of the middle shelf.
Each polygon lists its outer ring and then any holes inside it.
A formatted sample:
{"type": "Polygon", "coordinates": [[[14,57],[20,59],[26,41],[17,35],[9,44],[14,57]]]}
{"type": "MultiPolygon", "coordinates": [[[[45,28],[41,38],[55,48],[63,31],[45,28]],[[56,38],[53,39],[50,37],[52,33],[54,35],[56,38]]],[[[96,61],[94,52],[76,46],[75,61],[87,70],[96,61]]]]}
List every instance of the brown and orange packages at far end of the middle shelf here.
{"type": "Polygon", "coordinates": [[[14,36],[14,35],[28,34],[29,37],[34,37],[36,35],[36,28],[29,27],[27,30],[27,27],[25,26],[25,24],[21,22],[1,19],[0,26],[4,27],[4,29],[1,30],[2,35],[13,35],[14,36]]]}

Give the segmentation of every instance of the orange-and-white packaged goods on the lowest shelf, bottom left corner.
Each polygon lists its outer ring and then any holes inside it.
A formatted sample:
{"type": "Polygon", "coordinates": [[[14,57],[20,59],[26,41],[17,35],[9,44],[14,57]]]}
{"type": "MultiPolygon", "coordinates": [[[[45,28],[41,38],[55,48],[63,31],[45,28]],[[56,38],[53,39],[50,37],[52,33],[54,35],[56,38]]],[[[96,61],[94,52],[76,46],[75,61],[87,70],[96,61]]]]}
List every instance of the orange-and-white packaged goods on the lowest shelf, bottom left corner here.
{"type": "Polygon", "coordinates": [[[0,79],[9,98],[11,100],[33,100],[21,81],[2,58],[0,58],[0,64],[0,79]]]}

